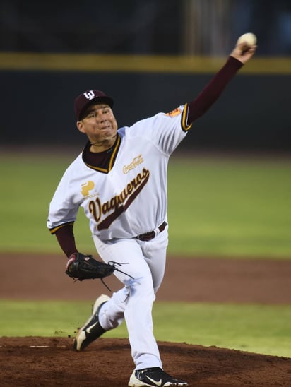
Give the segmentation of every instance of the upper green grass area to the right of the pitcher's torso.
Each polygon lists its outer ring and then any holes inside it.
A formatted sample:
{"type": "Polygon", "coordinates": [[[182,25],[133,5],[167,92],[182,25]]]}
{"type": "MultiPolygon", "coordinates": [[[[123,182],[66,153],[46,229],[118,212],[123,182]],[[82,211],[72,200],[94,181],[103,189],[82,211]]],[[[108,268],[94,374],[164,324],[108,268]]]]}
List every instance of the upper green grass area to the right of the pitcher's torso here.
{"type": "Polygon", "coordinates": [[[290,258],[290,176],[291,160],[174,160],[169,169],[170,251],[290,258]]]}

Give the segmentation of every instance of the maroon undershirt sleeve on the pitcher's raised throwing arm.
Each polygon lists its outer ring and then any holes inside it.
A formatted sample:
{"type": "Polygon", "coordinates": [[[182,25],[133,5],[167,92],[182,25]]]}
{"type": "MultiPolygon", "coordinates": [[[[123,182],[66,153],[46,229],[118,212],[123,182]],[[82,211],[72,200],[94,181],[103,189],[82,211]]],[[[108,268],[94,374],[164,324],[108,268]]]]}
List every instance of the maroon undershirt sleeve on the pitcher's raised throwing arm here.
{"type": "Polygon", "coordinates": [[[215,74],[196,99],[189,103],[186,125],[201,117],[218,99],[228,82],[243,66],[242,62],[230,56],[226,64],[215,74]]]}

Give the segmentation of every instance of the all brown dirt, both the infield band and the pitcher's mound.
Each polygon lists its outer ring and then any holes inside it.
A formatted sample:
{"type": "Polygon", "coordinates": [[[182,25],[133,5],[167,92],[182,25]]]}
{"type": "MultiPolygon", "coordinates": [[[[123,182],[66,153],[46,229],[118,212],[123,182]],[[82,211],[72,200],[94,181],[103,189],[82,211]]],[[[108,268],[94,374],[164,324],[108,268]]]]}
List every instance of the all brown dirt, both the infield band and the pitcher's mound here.
{"type": "MultiPolygon", "coordinates": [[[[63,256],[1,255],[1,298],[93,300],[105,292],[100,281],[66,278],[64,264],[63,256]]],[[[168,258],[157,299],[291,304],[290,278],[291,261],[168,258]]],[[[112,291],[119,288],[113,277],[106,282],[112,291]]],[[[128,340],[100,338],[80,353],[73,352],[72,340],[0,337],[0,386],[127,386],[133,370],[128,340]]],[[[189,386],[291,386],[291,358],[184,343],[159,346],[165,371],[189,386]]]]}

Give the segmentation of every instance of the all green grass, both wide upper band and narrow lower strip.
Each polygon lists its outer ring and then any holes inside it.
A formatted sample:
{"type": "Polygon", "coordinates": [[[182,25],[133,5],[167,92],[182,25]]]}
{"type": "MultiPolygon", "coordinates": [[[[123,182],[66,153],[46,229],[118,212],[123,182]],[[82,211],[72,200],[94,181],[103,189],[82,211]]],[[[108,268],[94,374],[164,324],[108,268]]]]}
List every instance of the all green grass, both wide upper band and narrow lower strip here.
{"type": "MultiPolygon", "coordinates": [[[[0,155],[0,252],[61,251],[46,228],[49,201],[69,155],[0,155]]],[[[291,257],[291,159],[172,156],[168,254],[291,257]]],[[[95,251],[82,213],[75,234],[95,251]]],[[[1,335],[73,335],[88,303],[0,299],[1,335]]],[[[290,306],[157,303],[158,340],[291,357],[290,306]],[[179,310],[179,314],[177,314],[179,310]],[[177,328],[179,327],[179,328],[177,328]]],[[[110,333],[126,337],[125,325],[110,333]]]]}

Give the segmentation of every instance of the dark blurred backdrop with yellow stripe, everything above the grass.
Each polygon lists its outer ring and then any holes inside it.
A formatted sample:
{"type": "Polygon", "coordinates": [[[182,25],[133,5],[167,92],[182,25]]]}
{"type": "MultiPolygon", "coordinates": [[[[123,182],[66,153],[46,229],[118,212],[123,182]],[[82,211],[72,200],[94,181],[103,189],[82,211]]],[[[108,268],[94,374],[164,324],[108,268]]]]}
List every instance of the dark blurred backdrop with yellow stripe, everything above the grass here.
{"type": "Polygon", "coordinates": [[[169,112],[244,32],[256,56],[181,147],[290,153],[290,0],[1,0],[1,143],[83,146],[73,100],[92,88],[119,126],[169,112]]]}

